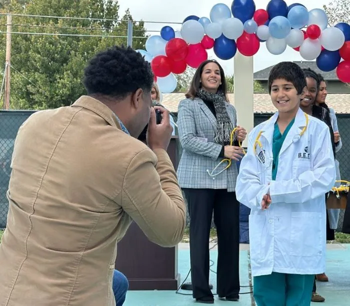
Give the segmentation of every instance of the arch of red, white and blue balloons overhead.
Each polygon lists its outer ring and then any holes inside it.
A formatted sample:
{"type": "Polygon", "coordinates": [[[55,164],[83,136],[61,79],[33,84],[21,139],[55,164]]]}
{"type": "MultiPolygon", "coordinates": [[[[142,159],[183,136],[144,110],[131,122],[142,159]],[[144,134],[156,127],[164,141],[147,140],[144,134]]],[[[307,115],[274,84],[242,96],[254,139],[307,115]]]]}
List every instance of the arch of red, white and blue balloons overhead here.
{"type": "Polygon", "coordinates": [[[176,88],[174,74],[193,68],[207,59],[213,48],[220,59],[232,58],[236,50],[254,55],[265,42],[271,54],[281,54],[287,45],[305,60],[316,59],[322,71],[336,68],[338,78],[350,82],[350,25],[345,22],[328,27],[328,17],[319,8],[310,11],[300,3],[289,6],[283,0],[270,0],[266,9],[255,9],[254,0],[233,0],[231,8],[217,3],[210,19],[190,15],[180,32],[164,26],[160,35],[148,37],[146,50],[137,50],[151,63],[160,90],[176,88]]]}

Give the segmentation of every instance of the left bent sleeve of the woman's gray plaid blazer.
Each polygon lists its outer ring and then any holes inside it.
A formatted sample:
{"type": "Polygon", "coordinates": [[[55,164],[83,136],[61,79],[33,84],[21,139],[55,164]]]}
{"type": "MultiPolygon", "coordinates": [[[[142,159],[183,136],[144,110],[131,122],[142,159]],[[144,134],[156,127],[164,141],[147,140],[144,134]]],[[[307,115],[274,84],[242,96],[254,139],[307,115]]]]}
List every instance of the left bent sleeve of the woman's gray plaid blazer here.
{"type": "Polygon", "coordinates": [[[190,100],[182,100],[178,105],[177,130],[180,143],[185,150],[217,159],[222,145],[205,141],[196,136],[193,108],[190,100]]]}

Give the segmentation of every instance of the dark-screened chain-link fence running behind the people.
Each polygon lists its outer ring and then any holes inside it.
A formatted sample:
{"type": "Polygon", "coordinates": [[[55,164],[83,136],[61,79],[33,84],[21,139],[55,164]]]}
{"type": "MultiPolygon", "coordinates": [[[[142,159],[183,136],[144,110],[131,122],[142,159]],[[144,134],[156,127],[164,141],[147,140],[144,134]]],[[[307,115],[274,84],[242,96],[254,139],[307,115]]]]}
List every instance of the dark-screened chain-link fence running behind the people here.
{"type": "MultiPolygon", "coordinates": [[[[13,143],[19,126],[34,111],[6,111],[0,110],[0,228],[6,226],[8,201],[6,191],[10,175],[10,161],[13,143]]],[[[255,113],[254,125],[267,120],[272,113],[255,113]]],[[[350,114],[337,114],[339,133],[341,135],[342,148],[336,154],[339,161],[341,179],[350,180],[350,114]]],[[[33,135],[34,137],[35,135],[33,135]]],[[[181,149],[179,149],[181,154],[181,149]]],[[[187,214],[188,215],[188,214],[187,214]]],[[[338,229],[342,226],[344,211],[340,211],[338,229]]]]}

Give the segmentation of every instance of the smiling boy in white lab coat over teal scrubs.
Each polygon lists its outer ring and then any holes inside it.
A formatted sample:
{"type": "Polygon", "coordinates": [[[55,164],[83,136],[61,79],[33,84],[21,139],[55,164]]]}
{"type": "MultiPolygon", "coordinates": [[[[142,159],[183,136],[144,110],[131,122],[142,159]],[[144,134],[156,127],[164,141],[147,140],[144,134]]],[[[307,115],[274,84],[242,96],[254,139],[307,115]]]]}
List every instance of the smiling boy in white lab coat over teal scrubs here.
{"type": "Polygon", "coordinates": [[[328,126],[299,108],[302,69],[281,62],[268,88],[277,112],[249,133],[235,187],[251,208],[249,239],[257,306],[310,304],[314,274],[325,270],[324,193],[335,181],[328,126]]]}

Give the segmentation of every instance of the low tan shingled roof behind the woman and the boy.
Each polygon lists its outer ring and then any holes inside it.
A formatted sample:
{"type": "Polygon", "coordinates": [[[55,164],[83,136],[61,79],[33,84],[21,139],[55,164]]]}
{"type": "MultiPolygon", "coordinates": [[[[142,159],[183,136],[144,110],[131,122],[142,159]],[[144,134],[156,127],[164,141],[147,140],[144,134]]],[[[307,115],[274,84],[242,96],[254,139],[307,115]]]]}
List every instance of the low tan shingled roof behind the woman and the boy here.
{"type": "MultiPolygon", "coordinates": [[[[169,111],[177,112],[177,106],[180,100],[184,99],[184,92],[163,93],[163,104],[169,111]]],[[[229,101],[234,105],[233,92],[228,93],[229,101]]],[[[268,93],[254,93],[254,112],[275,112],[276,109],[271,103],[268,93]]],[[[328,93],[327,105],[334,108],[336,113],[350,113],[350,94],[349,93],[328,93]]]]}

